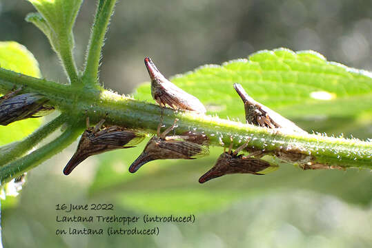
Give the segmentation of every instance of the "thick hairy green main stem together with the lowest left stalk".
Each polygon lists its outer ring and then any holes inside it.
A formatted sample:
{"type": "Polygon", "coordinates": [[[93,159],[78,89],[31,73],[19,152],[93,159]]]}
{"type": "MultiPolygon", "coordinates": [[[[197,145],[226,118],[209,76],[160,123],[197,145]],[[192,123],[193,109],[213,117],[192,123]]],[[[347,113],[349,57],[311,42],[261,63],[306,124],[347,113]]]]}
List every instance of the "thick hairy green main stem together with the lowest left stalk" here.
{"type": "MultiPolygon", "coordinates": [[[[21,172],[35,167],[37,163],[41,163],[52,156],[53,152],[57,153],[63,147],[66,147],[68,142],[75,141],[75,138],[83,130],[86,116],[90,117],[91,123],[97,123],[105,118],[107,124],[146,130],[146,132],[152,134],[156,132],[160,122],[161,107],[152,103],[130,99],[98,87],[88,87],[86,89],[67,87],[66,85],[34,79],[7,70],[0,70],[0,93],[6,93],[4,92],[6,90],[3,89],[10,89],[14,85],[28,85],[30,91],[41,92],[50,99],[50,103],[55,103],[62,113],[68,113],[71,116],[68,123],[80,125],[81,128],[79,132],[74,130],[72,138],[63,138],[68,133],[63,134],[61,136],[63,142],[56,141],[57,143],[51,143],[55,144],[54,146],[41,147],[37,152],[6,165],[0,169],[2,180],[9,180],[11,176],[19,175],[21,172]],[[19,78],[22,80],[16,80],[19,78]],[[9,85],[9,82],[12,82],[13,85],[9,85]],[[88,89],[92,92],[86,94],[88,89]],[[66,91],[62,92],[63,90],[66,91]],[[59,143],[63,143],[63,145],[57,145],[59,143]]],[[[204,132],[210,139],[211,145],[228,147],[232,137],[234,147],[249,141],[248,147],[266,152],[301,152],[313,156],[316,162],[326,163],[326,165],[372,169],[371,142],[315,134],[283,134],[254,125],[227,121],[193,112],[177,112],[168,108],[163,110],[163,116],[163,123],[166,127],[172,125],[175,118],[179,119],[175,134],[182,134],[188,130],[204,132]]],[[[72,130],[69,132],[72,133],[72,130]]],[[[61,137],[57,140],[61,140],[61,137]]]]}

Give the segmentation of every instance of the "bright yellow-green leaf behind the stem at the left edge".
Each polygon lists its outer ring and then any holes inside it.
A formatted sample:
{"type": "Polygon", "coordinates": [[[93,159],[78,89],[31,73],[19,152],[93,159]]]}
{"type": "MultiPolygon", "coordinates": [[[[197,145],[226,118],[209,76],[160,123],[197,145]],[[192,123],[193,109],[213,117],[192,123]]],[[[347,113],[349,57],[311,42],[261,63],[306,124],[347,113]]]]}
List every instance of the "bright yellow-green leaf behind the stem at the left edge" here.
{"type": "MultiPolygon", "coordinates": [[[[14,41],[0,42],[0,65],[14,72],[40,78],[39,64],[35,57],[23,45],[14,41]]],[[[40,118],[29,118],[10,125],[0,125],[0,145],[19,141],[41,124],[40,118]]]]}

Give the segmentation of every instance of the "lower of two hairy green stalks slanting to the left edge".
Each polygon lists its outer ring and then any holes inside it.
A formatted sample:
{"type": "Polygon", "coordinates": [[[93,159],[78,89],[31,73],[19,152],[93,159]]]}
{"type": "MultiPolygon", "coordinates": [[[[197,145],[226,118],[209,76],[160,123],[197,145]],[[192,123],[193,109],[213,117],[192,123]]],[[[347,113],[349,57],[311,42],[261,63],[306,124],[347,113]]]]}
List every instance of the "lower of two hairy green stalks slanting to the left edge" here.
{"type": "Polygon", "coordinates": [[[17,161],[8,163],[8,165],[0,167],[0,184],[7,183],[12,178],[21,176],[29,169],[36,167],[43,161],[61,152],[62,149],[68,147],[81,134],[82,127],[70,126],[68,129],[57,137],[54,141],[43,145],[35,152],[32,152],[17,161]]]}

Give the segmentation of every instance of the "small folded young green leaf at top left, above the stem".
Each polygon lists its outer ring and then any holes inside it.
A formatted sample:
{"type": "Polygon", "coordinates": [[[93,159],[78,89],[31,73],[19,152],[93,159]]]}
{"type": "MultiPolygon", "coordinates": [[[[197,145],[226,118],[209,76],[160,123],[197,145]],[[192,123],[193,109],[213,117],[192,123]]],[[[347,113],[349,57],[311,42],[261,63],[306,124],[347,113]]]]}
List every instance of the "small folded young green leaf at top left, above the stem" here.
{"type": "Polygon", "coordinates": [[[46,37],[52,48],[61,54],[61,46],[72,50],[74,37],[72,27],[82,0],[29,0],[39,13],[30,13],[26,21],[34,23],[46,37]]]}

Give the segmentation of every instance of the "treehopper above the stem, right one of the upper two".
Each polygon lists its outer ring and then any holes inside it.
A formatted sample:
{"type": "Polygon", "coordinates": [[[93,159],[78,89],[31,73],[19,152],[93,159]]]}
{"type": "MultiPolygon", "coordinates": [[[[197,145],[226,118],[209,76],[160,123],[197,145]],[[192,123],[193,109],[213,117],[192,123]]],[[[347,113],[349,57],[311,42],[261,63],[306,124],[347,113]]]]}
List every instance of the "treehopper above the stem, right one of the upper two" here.
{"type": "Polygon", "coordinates": [[[258,103],[251,98],[251,96],[248,96],[242,85],[239,85],[239,83],[234,83],[234,89],[244,102],[247,123],[258,125],[260,127],[280,128],[294,132],[305,132],[300,127],[297,127],[297,125],[295,125],[295,123],[292,121],[289,121],[287,118],[277,114],[277,112],[269,109],[265,105],[258,103]]]}

